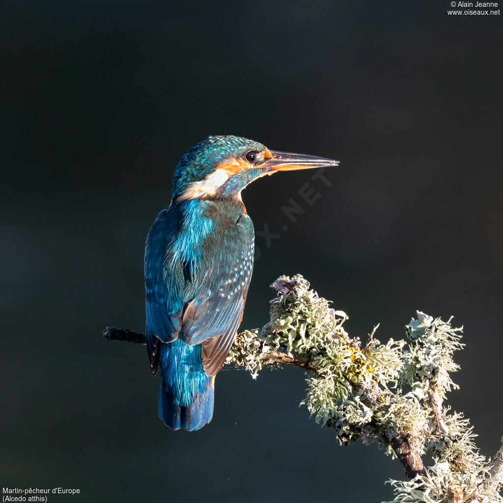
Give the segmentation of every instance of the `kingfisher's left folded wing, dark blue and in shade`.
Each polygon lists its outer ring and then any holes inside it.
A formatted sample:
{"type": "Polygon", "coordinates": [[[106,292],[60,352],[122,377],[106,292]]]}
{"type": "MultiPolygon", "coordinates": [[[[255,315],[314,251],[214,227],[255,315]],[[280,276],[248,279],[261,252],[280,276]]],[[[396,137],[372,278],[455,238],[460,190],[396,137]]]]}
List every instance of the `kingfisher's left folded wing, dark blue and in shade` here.
{"type": "Polygon", "coordinates": [[[147,235],[145,245],[146,343],[152,374],[157,372],[158,343],[172,342],[182,326],[184,279],[181,267],[174,268],[169,283],[164,274],[166,247],[177,231],[177,221],[162,210],[147,235]]]}

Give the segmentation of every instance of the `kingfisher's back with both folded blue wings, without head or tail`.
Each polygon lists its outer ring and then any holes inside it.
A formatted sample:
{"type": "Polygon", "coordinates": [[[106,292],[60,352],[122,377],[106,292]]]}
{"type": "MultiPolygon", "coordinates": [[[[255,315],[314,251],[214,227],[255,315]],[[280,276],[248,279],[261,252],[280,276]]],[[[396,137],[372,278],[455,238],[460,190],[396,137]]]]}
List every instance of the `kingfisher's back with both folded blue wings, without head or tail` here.
{"type": "Polygon", "coordinates": [[[147,236],[146,342],[153,374],[159,341],[180,337],[202,344],[203,369],[215,375],[241,322],[253,270],[253,223],[243,214],[230,226],[215,223],[201,232],[202,208],[161,211],[147,236]]]}

